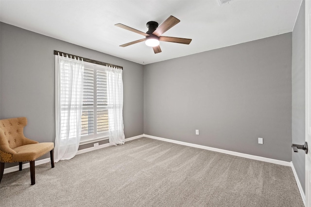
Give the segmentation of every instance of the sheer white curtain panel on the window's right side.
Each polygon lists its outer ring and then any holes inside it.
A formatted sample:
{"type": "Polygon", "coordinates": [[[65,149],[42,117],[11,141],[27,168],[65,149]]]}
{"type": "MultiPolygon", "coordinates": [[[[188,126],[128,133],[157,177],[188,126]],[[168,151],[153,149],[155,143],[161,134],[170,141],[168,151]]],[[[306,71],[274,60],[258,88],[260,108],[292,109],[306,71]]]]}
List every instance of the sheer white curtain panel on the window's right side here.
{"type": "Polygon", "coordinates": [[[109,145],[122,145],[125,142],[123,127],[123,80],[122,70],[107,69],[107,103],[109,123],[109,145]]]}

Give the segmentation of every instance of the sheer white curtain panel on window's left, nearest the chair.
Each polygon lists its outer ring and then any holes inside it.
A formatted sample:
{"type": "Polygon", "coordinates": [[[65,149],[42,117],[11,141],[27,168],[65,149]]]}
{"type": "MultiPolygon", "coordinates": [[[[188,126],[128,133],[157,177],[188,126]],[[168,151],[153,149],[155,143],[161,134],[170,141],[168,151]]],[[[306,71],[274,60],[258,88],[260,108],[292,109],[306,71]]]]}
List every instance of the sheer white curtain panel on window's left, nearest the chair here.
{"type": "Polygon", "coordinates": [[[55,56],[55,162],[78,151],[83,104],[83,59],[55,56]]]}

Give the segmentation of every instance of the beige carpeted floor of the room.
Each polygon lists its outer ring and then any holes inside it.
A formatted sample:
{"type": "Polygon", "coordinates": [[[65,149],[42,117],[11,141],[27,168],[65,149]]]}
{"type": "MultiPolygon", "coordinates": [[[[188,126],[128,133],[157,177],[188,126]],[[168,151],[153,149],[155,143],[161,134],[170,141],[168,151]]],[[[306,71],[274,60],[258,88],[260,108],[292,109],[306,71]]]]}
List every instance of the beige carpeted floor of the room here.
{"type": "Polygon", "coordinates": [[[4,174],[0,207],[304,207],[290,167],[139,138],[4,174]]]}

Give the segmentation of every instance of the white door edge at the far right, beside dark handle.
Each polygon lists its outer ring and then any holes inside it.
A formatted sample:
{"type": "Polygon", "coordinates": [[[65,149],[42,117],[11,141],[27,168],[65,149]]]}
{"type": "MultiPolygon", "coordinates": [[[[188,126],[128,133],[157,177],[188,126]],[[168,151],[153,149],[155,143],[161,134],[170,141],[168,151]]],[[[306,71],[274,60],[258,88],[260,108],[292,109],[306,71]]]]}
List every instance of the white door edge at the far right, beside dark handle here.
{"type": "Polygon", "coordinates": [[[305,0],[306,24],[306,207],[311,207],[311,0],[305,0]]]}

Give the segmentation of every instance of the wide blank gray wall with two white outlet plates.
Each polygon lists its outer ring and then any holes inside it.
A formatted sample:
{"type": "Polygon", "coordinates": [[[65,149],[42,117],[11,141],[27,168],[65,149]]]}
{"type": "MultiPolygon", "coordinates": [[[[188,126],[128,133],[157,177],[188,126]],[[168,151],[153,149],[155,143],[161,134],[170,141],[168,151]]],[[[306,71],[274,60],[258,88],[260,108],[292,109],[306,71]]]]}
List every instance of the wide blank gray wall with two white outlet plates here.
{"type": "Polygon", "coordinates": [[[144,133],[291,161],[291,67],[292,33],[145,65],[144,133]]]}

